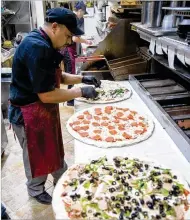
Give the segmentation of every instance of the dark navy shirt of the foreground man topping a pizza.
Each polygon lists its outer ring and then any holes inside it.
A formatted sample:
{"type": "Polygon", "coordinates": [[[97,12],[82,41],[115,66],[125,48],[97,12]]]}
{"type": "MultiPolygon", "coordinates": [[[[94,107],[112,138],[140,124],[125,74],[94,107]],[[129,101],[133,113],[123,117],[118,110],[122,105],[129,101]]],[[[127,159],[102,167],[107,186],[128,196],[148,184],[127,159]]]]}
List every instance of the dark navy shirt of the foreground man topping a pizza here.
{"type": "MultiPolygon", "coordinates": [[[[11,103],[27,105],[39,100],[37,93],[54,90],[56,68],[62,59],[43,30],[30,32],[16,49],[13,58],[9,95],[11,103]]],[[[9,120],[14,124],[22,124],[20,108],[13,105],[9,107],[9,120]]]]}

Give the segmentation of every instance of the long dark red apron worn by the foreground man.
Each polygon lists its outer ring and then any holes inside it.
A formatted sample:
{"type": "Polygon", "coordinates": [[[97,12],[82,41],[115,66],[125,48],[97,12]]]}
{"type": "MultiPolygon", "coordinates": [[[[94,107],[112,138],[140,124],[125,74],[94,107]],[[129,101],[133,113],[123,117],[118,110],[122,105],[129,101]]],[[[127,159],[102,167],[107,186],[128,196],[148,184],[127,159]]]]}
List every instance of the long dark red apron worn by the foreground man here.
{"type": "MultiPolygon", "coordinates": [[[[57,87],[61,69],[56,70],[57,87]]],[[[35,102],[21,107],[24,118],[32,177],[47,175],[63,167],[63,141],[59,105],[35,102]]]]}

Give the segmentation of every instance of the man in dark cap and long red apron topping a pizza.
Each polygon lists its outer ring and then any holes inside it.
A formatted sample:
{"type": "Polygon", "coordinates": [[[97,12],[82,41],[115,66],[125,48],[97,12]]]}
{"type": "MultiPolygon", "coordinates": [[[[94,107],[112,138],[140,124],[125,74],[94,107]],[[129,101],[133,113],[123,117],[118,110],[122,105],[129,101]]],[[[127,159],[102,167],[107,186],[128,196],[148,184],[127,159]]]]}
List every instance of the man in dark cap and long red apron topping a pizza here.
{"type": "Polygon", "coordinates": [[[92,86],[60,89],[59,83],[86,83],[100,86],[94,77],[62,73],[62,56],[57,50],[71,43],[72,35],[82,35],[76,15],[64,8],[47,11],[45,24],[34,30],[18,46],[12,66],[9,120],[23,148],[23,161],[30,196],[51,203],[44,191],[48,174],[54,184],[67,169],[58,103],[77,97],[97,96],[92,86]]]}

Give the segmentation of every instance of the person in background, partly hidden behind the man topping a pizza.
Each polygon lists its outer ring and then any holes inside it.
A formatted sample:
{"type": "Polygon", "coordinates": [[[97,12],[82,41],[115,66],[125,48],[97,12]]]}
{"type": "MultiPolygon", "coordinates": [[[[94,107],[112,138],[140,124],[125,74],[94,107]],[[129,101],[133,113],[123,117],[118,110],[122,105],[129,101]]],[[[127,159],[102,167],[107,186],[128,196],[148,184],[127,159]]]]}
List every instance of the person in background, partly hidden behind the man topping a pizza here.
{"type": "MultiPolygon", "coordinates": [[[[79,1],[76,3],[74,12],[77,16],[77,27],[84,32],[84,14],[86,14],[86,6],[84,2],[79,1]]],[[[81,54],[81,43],[91,45],[92,42],[85,40],[79,36],[72,37],[73,43],[68,47],[65,47],[60,51],[63,55],[64,68],[67,73],[76,74],[75,70],[75,58],[81,54]]],[[[68,89],[71,89],[73,85],[68,85],[68,89]]],[[[68,106],[74,106],[74,100],[67,102],[68,106]]]]}

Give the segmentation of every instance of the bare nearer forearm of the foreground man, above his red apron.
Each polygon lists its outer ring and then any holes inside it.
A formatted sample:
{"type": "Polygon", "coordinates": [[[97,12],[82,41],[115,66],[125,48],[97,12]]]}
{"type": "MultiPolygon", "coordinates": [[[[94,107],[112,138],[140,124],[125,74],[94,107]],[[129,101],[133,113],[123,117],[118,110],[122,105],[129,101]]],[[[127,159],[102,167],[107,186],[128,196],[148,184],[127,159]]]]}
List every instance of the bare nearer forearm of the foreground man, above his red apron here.
{"type": "Polygon", "coordinates": [[[43,103],[61,103],[66,102],[77,97],[81,97],[81,89],[55,89],[50,92],[38,93],[39,99],[43,103]]]}

